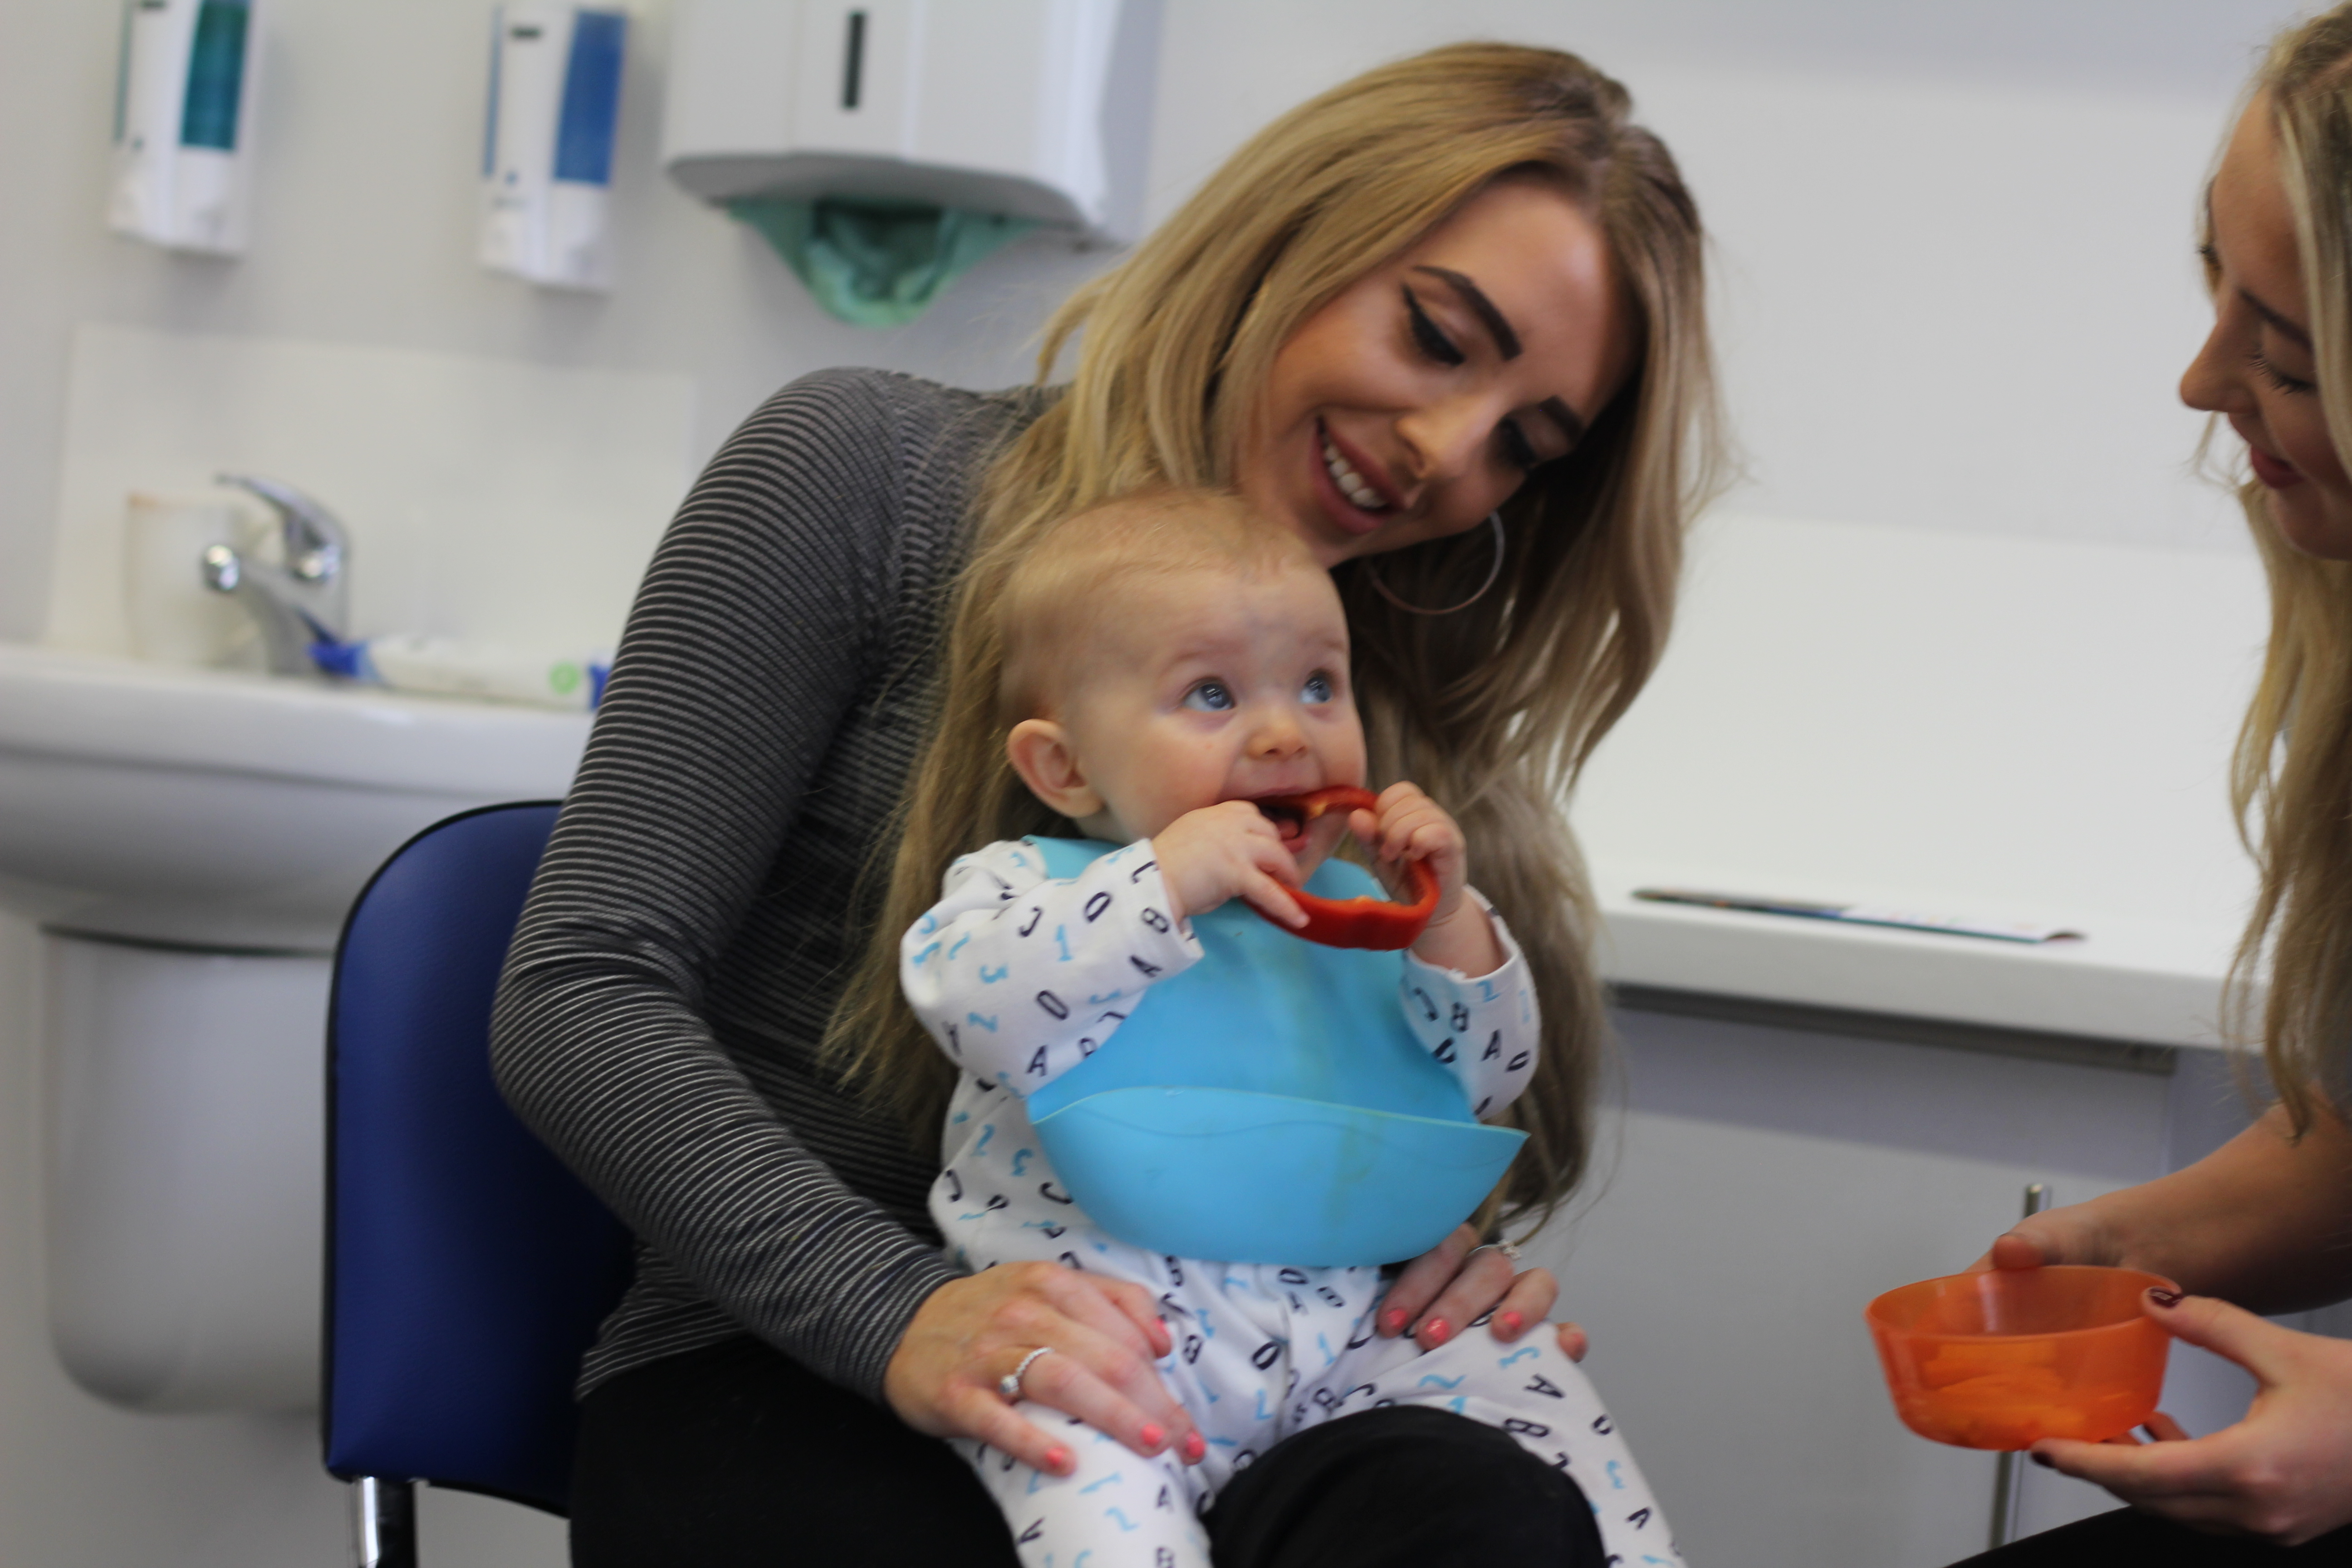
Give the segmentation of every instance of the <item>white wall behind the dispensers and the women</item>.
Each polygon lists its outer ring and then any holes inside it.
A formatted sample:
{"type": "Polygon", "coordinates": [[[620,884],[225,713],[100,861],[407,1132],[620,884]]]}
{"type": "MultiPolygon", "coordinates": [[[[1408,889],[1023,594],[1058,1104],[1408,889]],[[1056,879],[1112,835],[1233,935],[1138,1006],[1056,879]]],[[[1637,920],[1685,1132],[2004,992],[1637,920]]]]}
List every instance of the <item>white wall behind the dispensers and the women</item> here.
{"type": "MultiPolygon", "coordinates": [[[[1033,237],[913,327],[830,322],[656,172],[656,0],[626,85],[619,289],[487,275],[470,261],[487,9],[270,0],[252,254],[205,261],[101,228],[115,7],[0,0],[0,637],[42,623],[78,322],[682,374],[701,456],[823,364],[1018,378],[1044,308],[1096,266],[1033,237]]],[[[1446,38],[1578,47],[1632,82],[1717,235],[1743,510],[2237,548],[2183,470],[2199,425],[2171,383],[2199,334],[2199,181],[2286,0],[1167,9],[1155,212],[1279,108],[1446,38]]],[[[120,1415],[47,1359],[31,950],[0,922],[0,1561],[332,1561],[336,1502],[299,1427],[120,1415]]],[[[557,1537],[517,1519],[437,1500],[428,1530],[440,1561],[553,1561],[557,1537]]]]}

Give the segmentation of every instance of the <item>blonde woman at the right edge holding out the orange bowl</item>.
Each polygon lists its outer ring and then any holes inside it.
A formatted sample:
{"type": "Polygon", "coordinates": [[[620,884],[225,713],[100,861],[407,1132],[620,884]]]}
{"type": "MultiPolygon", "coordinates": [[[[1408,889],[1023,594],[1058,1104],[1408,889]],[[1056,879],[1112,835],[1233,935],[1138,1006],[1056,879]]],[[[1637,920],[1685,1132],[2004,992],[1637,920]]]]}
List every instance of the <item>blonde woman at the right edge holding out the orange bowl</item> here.
{"type": "Polygon", "coordinates": [[[1992,1262],[2176,1279],[2147,1314],[2260,1392],[2199,1439],[2159,1415],[2154,1443],[2034,1443],[2136,1507],[1987,1566],[2352,1561],[2352,1342],[2256,1316],[2352,1295],[2352,7],[2272,47],[2204,228],[2213,334],[2180,395],[2246,444],[2272,597],[2234,790],[2263,886],[2232,994],[2279,1098],[2185,1171],[2025,1220],[1992,1262]]]}

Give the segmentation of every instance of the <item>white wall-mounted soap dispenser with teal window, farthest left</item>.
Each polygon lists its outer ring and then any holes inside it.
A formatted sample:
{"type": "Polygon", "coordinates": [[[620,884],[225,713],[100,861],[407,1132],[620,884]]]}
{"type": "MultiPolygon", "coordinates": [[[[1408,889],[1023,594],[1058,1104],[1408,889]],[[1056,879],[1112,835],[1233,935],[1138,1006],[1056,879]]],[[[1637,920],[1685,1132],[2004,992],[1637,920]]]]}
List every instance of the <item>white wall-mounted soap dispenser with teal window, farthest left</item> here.
{"type": "Polygon", "coordinates": [[[106,226],[181,252],[245,252],[256,0],[127,0],[106,226]]]}

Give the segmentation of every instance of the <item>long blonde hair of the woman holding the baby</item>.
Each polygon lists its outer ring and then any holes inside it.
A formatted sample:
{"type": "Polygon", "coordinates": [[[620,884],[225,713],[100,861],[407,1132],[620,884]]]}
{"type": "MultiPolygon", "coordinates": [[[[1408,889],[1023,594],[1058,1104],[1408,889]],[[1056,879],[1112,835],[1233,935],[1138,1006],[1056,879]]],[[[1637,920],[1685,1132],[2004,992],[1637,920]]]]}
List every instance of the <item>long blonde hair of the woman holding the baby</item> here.
{"type": "MultiPolygon", "coordinates": [[[[828,1037],[851,1081],[920,1138],[936,1135],[955,1074],[898,994],[898,933],[957,853],[1070,832],[993,738],[1004,644],[988,607],[1011,564],[1042,529],[1110,496],[1230,487],[1275,353],[1301,322],[1496,179],[1531,174],[1606,237],[1637,364],[1576,454],[1503,505],[1503,578],[1472,609],[1399,614],[1359,564],[1336,581],[1374,783],[1411,778],[1463,823],[1472,879],[1536,973],[1543,1056],[1508,1117],[1529,1140],[1503,1213],[1548,1213],[1583,1175],[1606,1016],[1562,799],[1658,663],[1684,527],[1719,454],[1698,209],[1665,146],[1628,115],[1618,82],[1555,49],[1454,45],[1381,66],[1258,132],[1047,324],[1040,383],[1073,341],[1077,371],[981,482],[943,649],[955,691],[915,764],[880,924],[828,1037]]],[[[1406,602],[1451,604],[1484,576],[1486,548],[1475,529],[1378,569],[1406,602]]]]}

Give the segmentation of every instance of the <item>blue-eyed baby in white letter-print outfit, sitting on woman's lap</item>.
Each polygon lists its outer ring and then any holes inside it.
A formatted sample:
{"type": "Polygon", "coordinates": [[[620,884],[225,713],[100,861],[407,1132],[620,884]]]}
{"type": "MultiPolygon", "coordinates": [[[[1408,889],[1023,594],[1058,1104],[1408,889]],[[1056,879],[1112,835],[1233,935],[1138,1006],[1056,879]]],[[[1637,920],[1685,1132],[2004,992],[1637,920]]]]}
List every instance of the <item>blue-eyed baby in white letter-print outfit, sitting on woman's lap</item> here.
{"type": "MultiPolygon", "coordinates": [[[[1207,1439],[1200,1465],[1141,1460],[1070,1422],[1075,1465],[1061,1476],[962,1443],[1021,1561],[1207,1568],[1200,1514],[1237,1469],[1305,1427],[1421,1403],[1501,1427],[1566,1469],[1613,1561],[1679,1563],[1632,1453],[1550,1333],[1501,1345],[1472,1326],[1423,1352],[1376,1338],[1378,1267],[1171,1258],[1122,1241],[1089,1220],[1087,1194],[1070,1192],[1030,1121],[1030,1095],[1174,997],[1162,994],[1171,978],[1221,961],[1216,922],[1195,931],[1195,919],[1244,900],[1298,926],[1291,889],[1350,830],[1392,872],[1423,860],[1439,889],[1411,950],[1378,959],[1392,992],[1378,1006],[1454,1077],[1465,1112],[1491,1117],[1526,1091],[1534,985],[1463,882],[1454,818],[1409,783],[1376,811],[1289,832],[1254,804],[1364,780],[1329,574],[1240,501],[1167,491],[1063,522],[1023,559],[1000,616],[1004,755],[1091,844],[1000,842],[957,858],[903,940],[906,997],[960,1070],[931,1215],[962,1267],[1061,1260],[1160,1298],[1176,1340],[1160,1375],[1207,1439]]],[[[1016,1394],[1018,1378],[1007,1382],[1016,1394]]],[[[1068,1422],[1025,1399],[1018,1408],[1068,1422]]]]}

